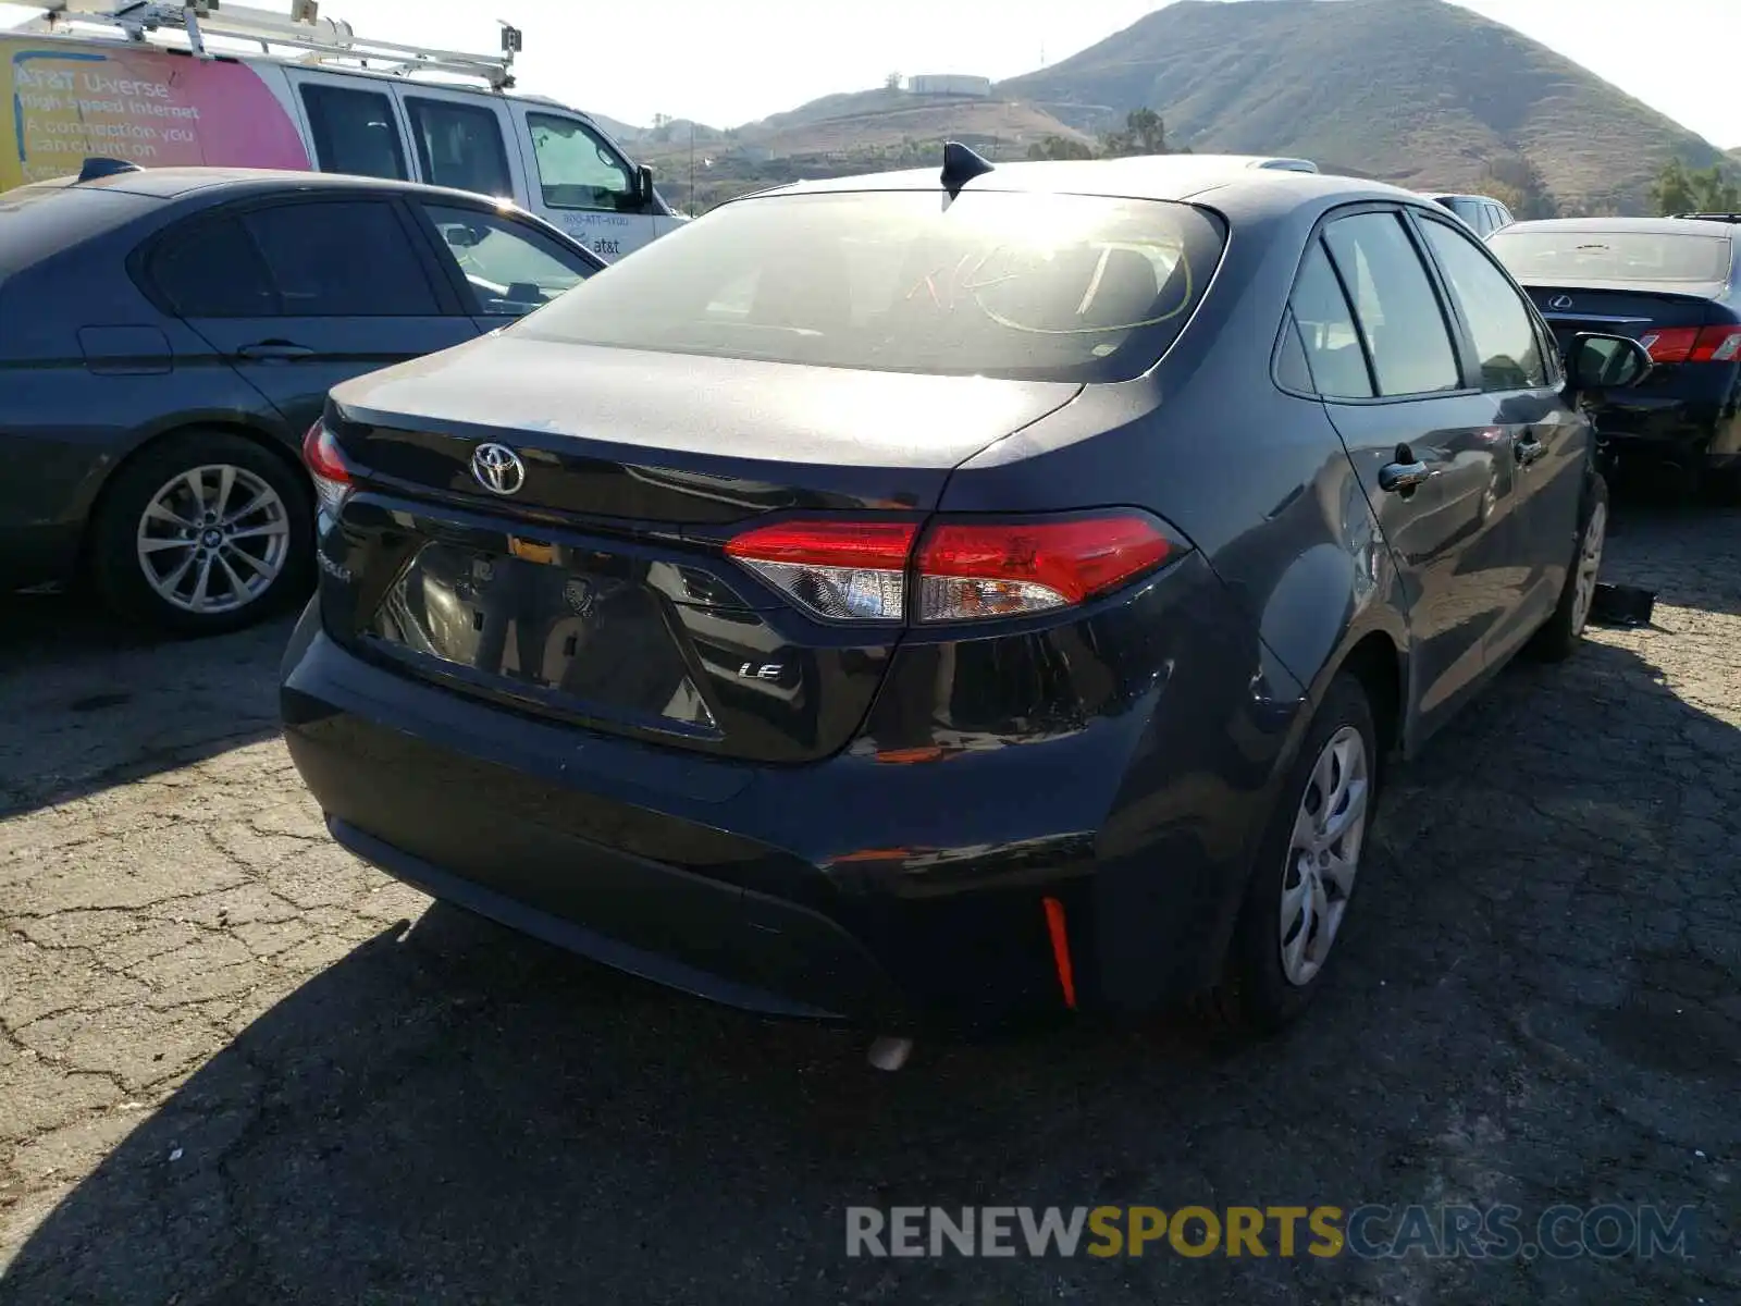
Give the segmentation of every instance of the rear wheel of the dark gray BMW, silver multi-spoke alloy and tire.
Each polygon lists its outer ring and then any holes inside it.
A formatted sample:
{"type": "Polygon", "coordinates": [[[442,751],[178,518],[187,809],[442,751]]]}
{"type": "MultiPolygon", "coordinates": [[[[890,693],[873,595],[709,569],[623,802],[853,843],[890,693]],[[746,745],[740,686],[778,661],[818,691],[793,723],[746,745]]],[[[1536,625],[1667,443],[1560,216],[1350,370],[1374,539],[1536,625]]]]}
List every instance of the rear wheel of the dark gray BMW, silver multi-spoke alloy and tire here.
{"type": "Polygon", "coordinates": [[[299,468],[242,435],[185,430],[146,446],[104,488],[91,522],[91,578],[104,606],[125,622],[216,636],[305,597],[312,540],[299,468]],[[195,484],[200,508],[193,507],[195,484]],[[232,521],[209,521],[225,491],[232,521]],[[207,547],[212,540],[216,549],[207,547]]]}

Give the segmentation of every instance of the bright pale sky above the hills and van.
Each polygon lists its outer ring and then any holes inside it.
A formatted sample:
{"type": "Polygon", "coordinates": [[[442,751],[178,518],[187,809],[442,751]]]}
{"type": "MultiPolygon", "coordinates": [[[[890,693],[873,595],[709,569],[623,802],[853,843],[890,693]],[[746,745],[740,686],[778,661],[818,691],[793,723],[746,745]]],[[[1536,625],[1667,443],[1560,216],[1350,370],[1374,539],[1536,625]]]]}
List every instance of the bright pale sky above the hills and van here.
{"type": "MultiPolygon", "coordinates": [[[[1741,0],[1455,0],[1551,45],[1724,148],[1741,146],[1741,0]]],[[[96,5],[97,0],[87,0],[96,5]]],[[[289,10],[287,0],[254,0],[289,10]]],[[[646,125],[733,127],[891,73],[1013,77],[1163,0],[320,0],[362,35],[496,49],[526,33],[521,89],[646,125]]],[[[0,0],[0,26],[33,16],[0,0]]]]}

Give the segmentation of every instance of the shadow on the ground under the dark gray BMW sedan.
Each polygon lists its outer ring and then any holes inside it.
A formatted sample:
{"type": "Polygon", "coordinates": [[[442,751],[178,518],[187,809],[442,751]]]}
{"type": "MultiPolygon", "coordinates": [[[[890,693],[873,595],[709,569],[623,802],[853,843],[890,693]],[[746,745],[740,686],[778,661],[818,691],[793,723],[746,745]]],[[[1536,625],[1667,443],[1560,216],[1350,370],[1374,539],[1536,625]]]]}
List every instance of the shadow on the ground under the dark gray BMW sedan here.
{"type": "Polygon", "coordinates": [[[289,629],[153,639],[84,596],[0,599],[0,820],[272,738],[289,629]]]}

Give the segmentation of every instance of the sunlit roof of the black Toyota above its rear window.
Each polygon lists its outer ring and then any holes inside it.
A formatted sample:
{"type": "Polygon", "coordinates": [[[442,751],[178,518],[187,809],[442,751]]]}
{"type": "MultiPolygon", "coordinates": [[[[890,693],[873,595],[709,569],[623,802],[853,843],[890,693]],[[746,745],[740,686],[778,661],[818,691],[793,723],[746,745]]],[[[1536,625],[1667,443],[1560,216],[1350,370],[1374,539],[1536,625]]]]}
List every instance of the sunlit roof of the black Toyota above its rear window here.
{"type": "MultiPolygon", "coordinates": [[[[1295,207],[1321,200],[1426,200],[1400,186],[1334,172],[1295,172],[1257,167],[1262,155],[1137,155],[1132,158],[1041,160],[998,164],[973,178],[963,190],[1029,192],[1060,195],[1104,195],[1137,200],[1196,200],[1215,193],[1217,207],[1295,207]],[[1292,204],[1290,204],[1292,200],[1292,204]]],[[[757,192],[756,199],[775,195],[823,195],[846,192],[942,190],[940,169],[904,169],[869,172],[820,181],[794,181],[757,192]]],[[[750,199],[750,197],[745,197],[750,199]]]]}

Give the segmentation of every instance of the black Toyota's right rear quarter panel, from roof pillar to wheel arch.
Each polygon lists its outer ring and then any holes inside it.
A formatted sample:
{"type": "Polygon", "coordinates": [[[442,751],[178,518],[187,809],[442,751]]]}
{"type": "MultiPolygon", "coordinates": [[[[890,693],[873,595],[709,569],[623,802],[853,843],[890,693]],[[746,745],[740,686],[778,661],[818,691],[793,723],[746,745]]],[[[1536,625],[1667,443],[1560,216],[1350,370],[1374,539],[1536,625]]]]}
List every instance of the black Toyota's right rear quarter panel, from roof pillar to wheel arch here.
{"type": "Polygon", "coordinates": [[[1260,634],[1321,693],[1382,630],[1407,650],[1389,552],[1323,404],[1283,392],[1271,359],[1321,209],[1233,221],[1196,317],[1156,369],[968,460],[945,510],[1128,503],[1179,528],[1260,634]]]}

